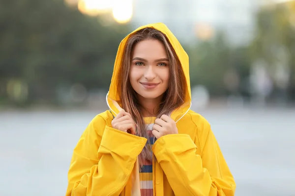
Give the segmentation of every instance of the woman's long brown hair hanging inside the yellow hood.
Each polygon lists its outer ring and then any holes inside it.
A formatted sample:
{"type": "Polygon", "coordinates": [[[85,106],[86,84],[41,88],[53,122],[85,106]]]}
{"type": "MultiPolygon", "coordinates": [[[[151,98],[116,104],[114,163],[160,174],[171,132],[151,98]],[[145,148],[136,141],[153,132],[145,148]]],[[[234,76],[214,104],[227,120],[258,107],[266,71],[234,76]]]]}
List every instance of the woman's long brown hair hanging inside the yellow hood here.
{"type": "MultiPolygon", "coordinates": [[[[147,39],[159,40],[164,45],[164,47],[166,48],[170,66],[169,87],[164,93],[165,95],[163,96],[163,100],[159,105],[157,118],[160,118],[163,114],[171,114],[173,110],[177,109],[184,103],[187,92],[187,84],[183,70],[181,68],[180,61],[175,50],[168,41],[166,35],[164,35],[161,31],[149,27],[141,29],[130,35],[126,42],[123,58],[118,72],[118,94],[120,97],[122,108],[126,112],[131,114],[136,124],[136,134],[140,137],[145,137],[148,139],[146,124],[142,116],[140,103],[137,99],[137,93],[133,90],[129,80],[132,51],[137,43],[147,39]]],[[[141,165],[143,163],[143,160],[152,160],[152,152],[150,149],[149,139],[139,156],[139,162],[141,165]]]]}

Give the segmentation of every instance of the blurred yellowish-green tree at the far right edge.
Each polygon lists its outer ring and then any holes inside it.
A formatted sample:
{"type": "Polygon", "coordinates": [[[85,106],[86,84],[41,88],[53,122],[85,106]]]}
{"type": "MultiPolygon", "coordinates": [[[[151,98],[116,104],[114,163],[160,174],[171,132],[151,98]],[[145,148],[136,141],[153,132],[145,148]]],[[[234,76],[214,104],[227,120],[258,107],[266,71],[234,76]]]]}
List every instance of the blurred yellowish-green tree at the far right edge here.
{"type": "MultiPolygon", "coordinates": [[[[295,100],[295,1],[263,7],[257,14],[256,33],[250,45],[251,61],[262,59],[269,66],[275,90],[284,89],[277,79],[283,66],[289,76],[286,94],[295,100]]],[[[275,91],[276,92],[276,91],[275,91]]]]}

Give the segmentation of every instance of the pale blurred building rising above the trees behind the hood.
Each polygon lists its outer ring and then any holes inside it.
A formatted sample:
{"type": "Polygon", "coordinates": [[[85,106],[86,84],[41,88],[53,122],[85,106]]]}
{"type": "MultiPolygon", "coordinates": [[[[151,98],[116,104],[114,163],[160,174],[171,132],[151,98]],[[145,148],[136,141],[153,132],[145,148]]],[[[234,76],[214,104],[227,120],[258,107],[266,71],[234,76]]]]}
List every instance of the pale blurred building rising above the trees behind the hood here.
{"type": "Polygon", "coordinates": [[[163,22],[180,42],[210,39],[222,30],[230,44],[252,38],[260,0],[135,0],[132,24],[163,22]]]}

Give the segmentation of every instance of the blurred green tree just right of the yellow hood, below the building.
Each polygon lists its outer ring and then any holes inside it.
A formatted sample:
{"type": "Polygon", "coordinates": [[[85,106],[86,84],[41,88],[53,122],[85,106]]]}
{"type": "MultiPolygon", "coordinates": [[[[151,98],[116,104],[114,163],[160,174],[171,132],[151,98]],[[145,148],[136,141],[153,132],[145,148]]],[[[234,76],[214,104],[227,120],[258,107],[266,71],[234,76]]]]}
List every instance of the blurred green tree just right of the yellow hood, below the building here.
{"type": "Polygon", "coordinates": [[[224,33],[217,31],[212,39],[201,41],[193,48],[188,47],[187,53],[192,86],[206,86],[212,97],[243,94],[244,87],[239,81],[249,76],[247,46],[231,47],[224,33]],[[236,89],[227,87],[225,80],[228,73],[237,75],[236,89]]]}

